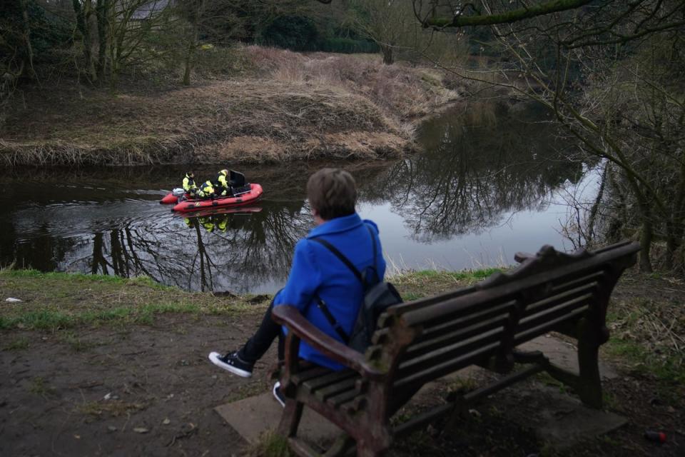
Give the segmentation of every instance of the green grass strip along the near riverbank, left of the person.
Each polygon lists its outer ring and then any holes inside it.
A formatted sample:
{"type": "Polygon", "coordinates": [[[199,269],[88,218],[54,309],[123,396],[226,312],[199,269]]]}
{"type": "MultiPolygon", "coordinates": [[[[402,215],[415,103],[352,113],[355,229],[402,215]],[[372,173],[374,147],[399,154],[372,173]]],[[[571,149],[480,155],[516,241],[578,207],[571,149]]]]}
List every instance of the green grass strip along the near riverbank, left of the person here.
{"type": "Polygon", "coordinates": [[[0,271],[0,331],[58,331],[80,326],[151,324],[168,313],[260,313],[267,296],[213,296],[161,286],[150,278],[0,271]]]}

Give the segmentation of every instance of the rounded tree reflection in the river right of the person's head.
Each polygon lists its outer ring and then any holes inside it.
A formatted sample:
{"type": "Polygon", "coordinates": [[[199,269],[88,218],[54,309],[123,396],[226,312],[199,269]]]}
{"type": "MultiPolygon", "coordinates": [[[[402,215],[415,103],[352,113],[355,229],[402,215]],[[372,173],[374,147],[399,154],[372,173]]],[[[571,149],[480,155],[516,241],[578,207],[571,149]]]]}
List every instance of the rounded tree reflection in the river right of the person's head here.
{"type": "Polygon", "coordinates": [[[389,199],[412,238],[425,243],[480,233],[512,211],[544,209],[553,189],[581,177],[582,164],[569,160],[544,114],[509,110],[480,102],[427,122],[425,153],[363,186],[362,199],[389,199]]]}

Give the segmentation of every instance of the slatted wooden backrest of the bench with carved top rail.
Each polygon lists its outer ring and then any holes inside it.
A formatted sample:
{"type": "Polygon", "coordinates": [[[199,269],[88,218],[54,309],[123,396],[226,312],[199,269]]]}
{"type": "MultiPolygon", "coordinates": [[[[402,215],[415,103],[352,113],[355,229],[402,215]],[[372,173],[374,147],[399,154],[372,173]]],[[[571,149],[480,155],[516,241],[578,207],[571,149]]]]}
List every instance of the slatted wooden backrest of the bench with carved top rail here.
{"type": "Polygon", "coordinates": [[[509,273],[392,306],[366,356],[389,367],[393,389],[404,390],[488,361],[508,371],[515,346],[549,331],[574,336],[583,318],[602,343],[609,296],[638,250],[627,242],[574,254],[544,246],[509,273]]]}

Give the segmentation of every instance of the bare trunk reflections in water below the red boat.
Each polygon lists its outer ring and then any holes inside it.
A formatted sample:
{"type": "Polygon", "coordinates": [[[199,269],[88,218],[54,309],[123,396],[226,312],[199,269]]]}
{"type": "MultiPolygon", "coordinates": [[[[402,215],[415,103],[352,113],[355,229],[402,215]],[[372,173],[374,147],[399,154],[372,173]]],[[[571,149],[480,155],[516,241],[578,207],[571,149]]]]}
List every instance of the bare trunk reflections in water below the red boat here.
{"type": "MultiPolygon", "coordinates": [[[[154,231],[126,227],[95,233],[89,271],[144,274],[199,291],[244,292],[256,283],[283,282],[311,216],[303,211],[303,202],[267,206],[268,211],[173,216],[183,225],[166,224],[154,231]]],[[[69,267],[74,268],[81,269],[77,262],[69,267]]]]}

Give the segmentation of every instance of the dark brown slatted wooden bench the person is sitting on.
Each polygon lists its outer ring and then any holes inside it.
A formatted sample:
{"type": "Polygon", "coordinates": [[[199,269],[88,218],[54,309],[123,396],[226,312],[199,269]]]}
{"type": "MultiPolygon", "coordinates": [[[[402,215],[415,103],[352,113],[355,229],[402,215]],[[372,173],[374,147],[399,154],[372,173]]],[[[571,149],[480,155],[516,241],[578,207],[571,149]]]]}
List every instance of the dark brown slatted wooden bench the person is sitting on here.
{"type": "MultiPolygon", "coordinates": [[[[303,406],[342,428],[357,456],[379,456],[394,436],[540,371],[571,386],[581,400],[602,407],[597,352],[609,338],[609,296],[624,269],[635,262],[637,243],[594,252],[559,253],[543,246],[536,256],[517,254],[521,265],[475,286],[401,303],[383,313],[365,354],[312,326],[293,306],[277,306],[273,318],[288,327],[280,383],[287,398],[278,433],[300,456],[318,455],[298,438],[303,406]],[[550,331],[578,341],[579,373],[550,363],[544,354],[517,346],[550,331]],[[300,339],[348,367],[342,371],[298,359],[300,339]],[[524,368],[514,371],[515,363],[524,368]],[[392,415],[425,383],[467,366],[505,376],[452,401],[391,426],[392,415]]],[[[326,455],[342,450],[331,449],[326,455]]],[[[334,446],[335,447],[335,446],[334,446]]]]}

